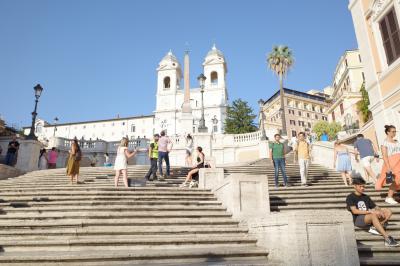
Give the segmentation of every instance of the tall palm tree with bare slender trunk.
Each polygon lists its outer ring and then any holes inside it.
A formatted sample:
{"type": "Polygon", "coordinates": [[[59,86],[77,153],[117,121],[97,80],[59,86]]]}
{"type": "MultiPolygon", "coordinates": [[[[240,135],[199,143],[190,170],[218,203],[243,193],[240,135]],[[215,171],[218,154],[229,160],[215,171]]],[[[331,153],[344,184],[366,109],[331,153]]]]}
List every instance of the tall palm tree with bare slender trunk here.
{"type": "Polygon", "coordinates": [[[293,66],[293,53],[289,47],[284,45],[274,46],[272,51],[267,56],[268,67],[279,77],[279,94],[281,97],[281,118],[282,118],[282,135],[287,135],[286,118],[285,118],[285,103],[283,91],[283,78],[293,66]]]}

